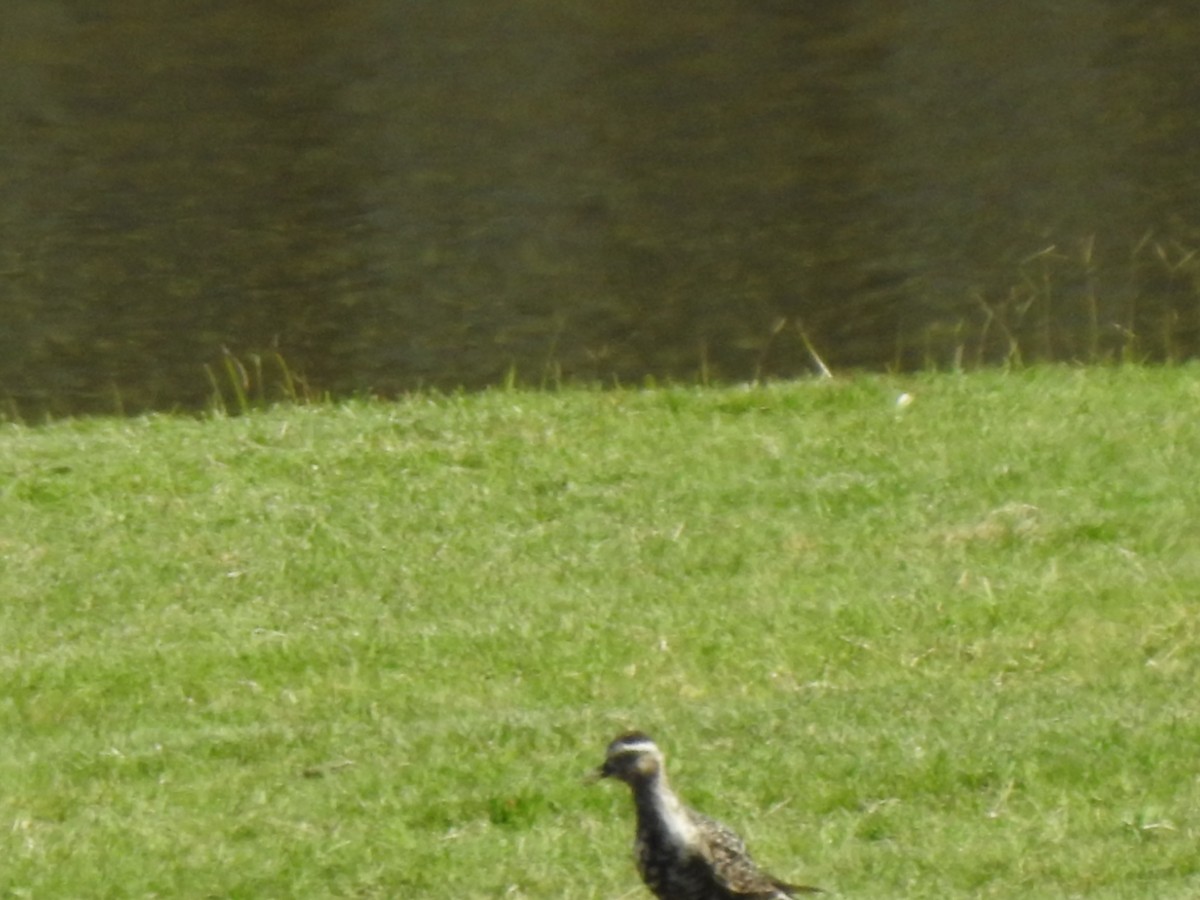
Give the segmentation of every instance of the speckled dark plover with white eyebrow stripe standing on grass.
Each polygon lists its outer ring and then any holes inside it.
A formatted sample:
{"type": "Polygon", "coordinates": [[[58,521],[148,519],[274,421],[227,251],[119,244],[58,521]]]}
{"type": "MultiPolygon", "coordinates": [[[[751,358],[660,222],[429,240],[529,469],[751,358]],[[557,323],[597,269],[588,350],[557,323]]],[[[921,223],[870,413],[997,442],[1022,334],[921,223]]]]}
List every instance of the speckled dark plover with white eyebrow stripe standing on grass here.
{"type": "Polygon", "coordinates": [[[628,731],[608,744],[593,773],[593,780],[606,778],[634,792],[634,860],[659,900],[792,900],[824,893],[762,871],[737,833],[685,806],[667,782],[662,751],[644,732],[628,731]]]}

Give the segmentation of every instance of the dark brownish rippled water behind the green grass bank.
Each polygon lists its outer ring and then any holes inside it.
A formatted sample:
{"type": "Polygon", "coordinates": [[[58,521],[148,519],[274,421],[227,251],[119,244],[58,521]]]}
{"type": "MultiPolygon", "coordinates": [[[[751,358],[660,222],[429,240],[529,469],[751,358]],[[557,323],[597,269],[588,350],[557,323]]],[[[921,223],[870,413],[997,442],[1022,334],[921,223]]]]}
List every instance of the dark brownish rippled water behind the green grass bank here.
{"type": "Polygon", "coordinates": [[[0,400],[1195,355],[1198,47],[1182,1],[8,0],[0,400]]]}

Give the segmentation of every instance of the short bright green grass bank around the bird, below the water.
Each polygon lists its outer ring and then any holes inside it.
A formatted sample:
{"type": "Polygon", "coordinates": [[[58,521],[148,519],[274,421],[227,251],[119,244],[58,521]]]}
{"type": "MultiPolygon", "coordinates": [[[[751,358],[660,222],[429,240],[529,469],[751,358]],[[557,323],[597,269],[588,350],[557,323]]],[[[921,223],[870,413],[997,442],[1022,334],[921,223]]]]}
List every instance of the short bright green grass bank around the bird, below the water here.
{"type": "Polygon", "coordinates": [[[1196,896],[1198,373],[2,426],[0,896],[1196,896]]]}

